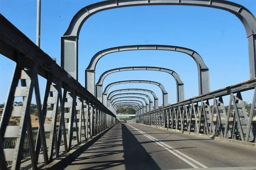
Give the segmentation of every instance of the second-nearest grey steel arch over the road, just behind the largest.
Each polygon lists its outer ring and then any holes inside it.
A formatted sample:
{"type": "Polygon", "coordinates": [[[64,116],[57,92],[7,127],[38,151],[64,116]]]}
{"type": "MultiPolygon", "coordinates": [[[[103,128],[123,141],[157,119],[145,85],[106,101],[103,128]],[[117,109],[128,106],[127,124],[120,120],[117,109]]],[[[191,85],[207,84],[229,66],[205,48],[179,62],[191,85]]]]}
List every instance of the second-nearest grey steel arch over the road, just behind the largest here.
{"type": "MultiPolygon", "coordinates": [[[[133,51],[133,50],[165,50],[165,51],[176,51],[176,52],[182,52],[182,53],[188,54],[189,56],[191,56],[194,59],[194,61],[196,62],[196,65],[197,65],[199,95],[210,91],[209,69],[204,64],[202,57],[194,50],[191,50],[191,49],[188,49],[185,47],[169,46],[169,45],[130,45],[130,46],[112,47],[112,48],[108,48],[108,49],[99,51],[98,53],[96,53],[93,56],[93,58],[91,58],[91,61],[85,70],[85,81],[86,81],[85,88],[88,91],[90,91],[92,94],[95,93],[95,89],[94,89],[95,87],[93,86],[95,83],[95,68],[96,68],[96,65],[101,57],[103,57],[106,54],[110,54],[110,53],[114,53],[114,52],[133,51]]],[[[124,67],[124,68],[120,68],[120,69],[132,70],[132,68],[133,67],[124,67]]],[[[139,68],[141,68],[141,67],[137,67],[138,70],[139,70],[139,68]]],[[[145,68],[149,68],[148,70],[165,71],[165,72],[169,72],[169,73],[170,73],[170,71],[172,71],[172,70],[165,70],[165,68],[162,68],[162,70],[159,70],[158,67],[152,67],[152,69],[150,69],[151,67],[145,67],[145,68]],[[158,70],[156,70],[156,69],[158,69],[158,70]]],[[[146,70],[146,69],[143,69],[143,70],[146,70]]],[[[113,72],[117,72],[117,71],[118,70],[116,70],[116,69],[112,69],[112,70],[108,70],[107,72],[113,73],[113,72]]],[[[120,71],[126,71],[126,70],[120,70],[120,71]]],[[[177,78],[177,76],[175,76],[174,74],[173,74],[173,77],[177,78]]],[[[103,77],[103,79],[104,79],[104,77],[103,77]]],[[[179,80],[179,79],[180,78],[178,78],[177,80],[179,80]]],[[[179,82],[177,80],[175,80],[176,83],[179,82]]],[[[103,80],[102,80],[102,82],[103,82],[103,80]]],[[[100,80],[99,80],[97,84],[102,85],[102,82],[100,82],[100,80]]],[[[96,90],[96,94],[97,94],[97,90],[96,90]]],[[[180,101],[182,101],[182,100],[180,100],[180,101]]]]}

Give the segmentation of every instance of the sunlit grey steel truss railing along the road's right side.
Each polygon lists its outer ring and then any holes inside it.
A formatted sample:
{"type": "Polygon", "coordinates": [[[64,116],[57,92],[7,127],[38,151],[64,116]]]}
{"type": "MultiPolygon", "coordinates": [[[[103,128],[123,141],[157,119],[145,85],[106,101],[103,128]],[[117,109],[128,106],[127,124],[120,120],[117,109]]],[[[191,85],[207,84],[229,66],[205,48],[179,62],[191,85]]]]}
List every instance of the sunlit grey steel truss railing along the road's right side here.
{"type": "Polygon", "coordinates": [[[255,101],[256,78],[144,113],[136,116],[135,121],[168,129],[256,142],[256,124],[253,122],[255,101]],[[252,89],[254,89],[252,106],[250,111],[246,111],[241,92],[252,89]],[[227,95],[230,100],[226,112],[223,97],[227,95]],[[213,102],[210,105],[211,99],[213,102]],[[231,106],[234,113],[231,111],[231,106]],[[214,117],[213,113],[217,116],[214,117]]]}

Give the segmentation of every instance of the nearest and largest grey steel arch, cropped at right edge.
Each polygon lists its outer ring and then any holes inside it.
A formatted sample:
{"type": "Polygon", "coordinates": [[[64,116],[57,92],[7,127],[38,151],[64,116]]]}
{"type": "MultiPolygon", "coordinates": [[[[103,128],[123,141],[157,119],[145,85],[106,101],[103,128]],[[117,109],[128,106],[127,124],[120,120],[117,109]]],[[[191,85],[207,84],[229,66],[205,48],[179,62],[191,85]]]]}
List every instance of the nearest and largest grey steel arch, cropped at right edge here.
{"type": "Polygon", "coordinates": [[[61,67],[77,79],[79,33],[84,22],[90,16],[113,8],[142,5],[205,6],[225,10],[236,15],[243,23],[248,38],[250,78],[256,76],[256,19],[244,6],[225,0],[108,0],[87,5],[74,15],[67,31],[61,36],[61,67]],[[74,60],[71,61],[70,58],[74,58],[74,60]]]}

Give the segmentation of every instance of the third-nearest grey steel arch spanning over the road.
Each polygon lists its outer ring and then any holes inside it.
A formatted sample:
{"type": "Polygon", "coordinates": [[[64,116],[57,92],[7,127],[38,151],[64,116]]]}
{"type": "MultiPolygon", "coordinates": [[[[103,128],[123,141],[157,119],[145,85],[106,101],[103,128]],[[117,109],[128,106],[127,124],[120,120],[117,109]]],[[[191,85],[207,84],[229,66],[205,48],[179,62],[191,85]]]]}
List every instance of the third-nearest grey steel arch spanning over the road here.
{"type": "MultiPolygon", "coordinates": [[[[172,75],[172,77],[175,79],[176,82],[176,94],[177,94],[177,102],[184,100],[184,84],[180,79],[180,76],[173,70],[162,68],[162,67],[121,67],[121,68],[115,68],[108,71],[105,71],[101,74],[98,82],[96,83],[96,98],[102,102],[102,84],[105,79],[105,77],[111,73],[119,72],[119,71],[130,71],[130,70],[153,70],[153,71],[162,71],[167,72],[172,75]]],[[[87,80],[86,80],[87,81],[87,80]]],[[[90,80],[88,80],[90,81],[90,80]]],[[[209,91],[208,91],[209,92],[209,91]]]]}

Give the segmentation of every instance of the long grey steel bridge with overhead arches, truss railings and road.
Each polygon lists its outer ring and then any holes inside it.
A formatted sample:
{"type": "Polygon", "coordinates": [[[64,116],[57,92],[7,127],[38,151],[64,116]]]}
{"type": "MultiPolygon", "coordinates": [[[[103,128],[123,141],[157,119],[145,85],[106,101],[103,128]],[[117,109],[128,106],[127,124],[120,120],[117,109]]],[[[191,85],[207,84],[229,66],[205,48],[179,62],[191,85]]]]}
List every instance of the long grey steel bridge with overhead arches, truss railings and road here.
{"type": "Polygon", "coordinates": [[[1,170],[256,169],[256,19],[246,7],[224,0],[106,0],[83,6],[67,28],[60,39],[58,65],[40,43],[34,44],[0,14],[0,54],[15,62],[9,91],[1,88],[8,91],[0,117],[1,170]],[[148,5],[201,6],[234,14],[246,31],[250,79],[211,91],[210,68],[196,49],[136,44],[102,49],[90,56],[85,85],[81,85],[78,37],[87,19],[114,8],[148,5]],[[189,84],[183,82],[188,77],[157,66],[105,70],[96,83],[96,65],[103,56],[140,50],[173,51],[192,57],[197,66],[198,96],[185,98],[184,86],[189,84]],[[175,81],[176,94],[168,93],[167,87],[154,79],[103,83],[109,74],[138,70],[168,73],[175,81]],[[43,92],[42,79],[46,82],[43,92]],[[113,90],[120,84],[127,84],[127,88],[113,90]],[[160,96],[152,89],[131,84],[156,86],[160,96]],[[242,96],[250,90],[253,94],[248,106],[242,96]],[[168,102],[170,97],[176,102],[168,102]],[[37,125],[32,121],[33,98],[37,125]],[[117,118],[117,110],[124,107],[136,112],[127,123],[117,118]]]}

